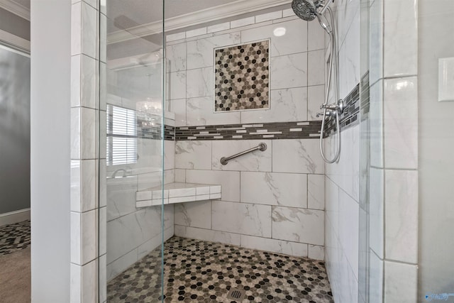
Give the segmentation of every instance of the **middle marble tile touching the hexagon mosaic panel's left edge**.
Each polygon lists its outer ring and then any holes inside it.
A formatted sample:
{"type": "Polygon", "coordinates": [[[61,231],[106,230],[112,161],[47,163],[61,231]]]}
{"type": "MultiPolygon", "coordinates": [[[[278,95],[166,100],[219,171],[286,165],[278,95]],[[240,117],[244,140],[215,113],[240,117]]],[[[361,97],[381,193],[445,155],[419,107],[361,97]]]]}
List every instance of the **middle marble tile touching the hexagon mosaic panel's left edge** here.
{"type": "MultiPolygon", "coordinates": [[[[186,95],[187,98],[213,96],[213,67],[197,68],[195,70],[187,70],[186,72],[186,95]]],[[[179,86],[178,89],[184,92],[184,86],[179,86]]],[[[178,98],[172,98],[178,99],[178,98]]],[[[211,102],[213,106],[213,102],[211,102]]]]}

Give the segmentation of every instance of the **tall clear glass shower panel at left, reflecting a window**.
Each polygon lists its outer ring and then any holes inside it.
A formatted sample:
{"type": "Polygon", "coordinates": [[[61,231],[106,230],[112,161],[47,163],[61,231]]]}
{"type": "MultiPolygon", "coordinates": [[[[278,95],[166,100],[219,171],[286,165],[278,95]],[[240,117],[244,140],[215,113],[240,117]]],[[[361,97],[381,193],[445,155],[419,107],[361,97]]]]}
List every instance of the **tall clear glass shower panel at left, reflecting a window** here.
{"type": "Polygon", "coordinates": [[[100,302],[138,290],[157,302],[170,224],[150,192],[164,183],[162,1],[105,1],[99,18],[100,302]]]}

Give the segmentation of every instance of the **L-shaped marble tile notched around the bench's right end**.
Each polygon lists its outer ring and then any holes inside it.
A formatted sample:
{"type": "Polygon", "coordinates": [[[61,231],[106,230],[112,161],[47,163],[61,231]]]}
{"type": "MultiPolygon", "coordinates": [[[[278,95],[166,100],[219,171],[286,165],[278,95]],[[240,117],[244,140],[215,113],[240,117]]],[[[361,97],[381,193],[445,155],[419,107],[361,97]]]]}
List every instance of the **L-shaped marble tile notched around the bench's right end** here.
{"type": "Polygon", "coordinates": [[[240,172],[220,170],[187,170],[186,182],[201,184],[221,184],[223,201],[240,201],[240,172]]]}

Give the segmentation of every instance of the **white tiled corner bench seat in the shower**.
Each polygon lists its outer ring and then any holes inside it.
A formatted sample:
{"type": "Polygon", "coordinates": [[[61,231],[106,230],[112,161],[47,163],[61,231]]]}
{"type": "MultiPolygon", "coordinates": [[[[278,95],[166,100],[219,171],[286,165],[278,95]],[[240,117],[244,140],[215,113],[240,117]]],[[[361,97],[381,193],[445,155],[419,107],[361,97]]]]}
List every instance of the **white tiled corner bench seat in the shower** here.
{"type": "Polygon", "coordinates": [[[162,194],[164,204],[221,199],[221,185],[173,182],[164,185],[164,192],[161,187],[141,190],[135,192],[135,207],[161,205],[162,194]]]}

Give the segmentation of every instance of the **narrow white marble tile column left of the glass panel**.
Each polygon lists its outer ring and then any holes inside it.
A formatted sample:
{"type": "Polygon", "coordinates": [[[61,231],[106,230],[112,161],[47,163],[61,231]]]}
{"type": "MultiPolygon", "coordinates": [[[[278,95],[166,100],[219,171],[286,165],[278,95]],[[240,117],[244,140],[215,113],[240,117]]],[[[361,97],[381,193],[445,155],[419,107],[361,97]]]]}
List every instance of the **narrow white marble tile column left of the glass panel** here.
{"type": "MultiPolygon", "coordinates": [[[[98,244],[99,77],[99,1],[72,1],[71,8],[71,194],[70,194],[70,294],[72,303],[98,299],[99,255],[105,246],[98,244]]],[[[102,232],[102,231],[100,231],[102,232]]],[[[104,252],[105,253],[105,252],[104,252]]]]}

